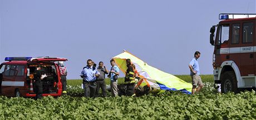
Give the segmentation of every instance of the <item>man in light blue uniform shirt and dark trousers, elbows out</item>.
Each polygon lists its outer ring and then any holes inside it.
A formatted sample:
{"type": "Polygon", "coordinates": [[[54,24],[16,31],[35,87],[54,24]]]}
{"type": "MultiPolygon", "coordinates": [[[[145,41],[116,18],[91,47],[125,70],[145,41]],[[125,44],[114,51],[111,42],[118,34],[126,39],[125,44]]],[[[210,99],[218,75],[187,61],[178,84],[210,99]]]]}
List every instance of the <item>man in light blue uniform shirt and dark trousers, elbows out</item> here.
{"type": "Polygon", "coordinates": [[[93,69],[92,60],[87,60],[87,66],[83,67],[81,72],[83,84],[85,85],[85,97],[95,97],[96,78],[100,75],[96,69],[93,69]]]}

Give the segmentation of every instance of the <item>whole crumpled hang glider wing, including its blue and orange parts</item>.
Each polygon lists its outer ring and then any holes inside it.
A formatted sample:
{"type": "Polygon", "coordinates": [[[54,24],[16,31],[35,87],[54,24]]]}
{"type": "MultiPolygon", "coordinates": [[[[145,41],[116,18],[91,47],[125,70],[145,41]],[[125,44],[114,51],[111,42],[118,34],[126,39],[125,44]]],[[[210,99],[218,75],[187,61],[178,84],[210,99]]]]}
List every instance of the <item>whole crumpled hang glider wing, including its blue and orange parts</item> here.
{"type": "Polygon", "coordinates": [[[128,51],[124,51],[124,53],[114,56],[113,59],[115,60],[116,65],[119,66],[120,70],[124,73],[127,70],[126,59],[130,59],[132,64],[135,65],[141,78],[140,81],[137,82],[135,88],[139,86],[147,86],[157,90],[179,90],[184,93],[191,94],[191,84],[174,75],[147,65],[146,62],[132,55],[128,51]]]}

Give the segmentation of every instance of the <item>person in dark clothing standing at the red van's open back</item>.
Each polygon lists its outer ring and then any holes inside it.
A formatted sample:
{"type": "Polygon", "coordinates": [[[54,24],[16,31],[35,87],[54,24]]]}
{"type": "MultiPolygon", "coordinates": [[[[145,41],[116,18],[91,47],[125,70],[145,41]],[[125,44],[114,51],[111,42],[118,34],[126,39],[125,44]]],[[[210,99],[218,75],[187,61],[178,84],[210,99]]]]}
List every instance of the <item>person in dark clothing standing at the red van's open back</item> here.
{"type": "Polygon", "coordinates": [[[42,72],[41,72],[41,66],[38,65],[36,67],[36,70],[34,71],[34,80],[36,81],[36,100],[42,98],[43,93],[43,83],[41,81],[42,72]]]}

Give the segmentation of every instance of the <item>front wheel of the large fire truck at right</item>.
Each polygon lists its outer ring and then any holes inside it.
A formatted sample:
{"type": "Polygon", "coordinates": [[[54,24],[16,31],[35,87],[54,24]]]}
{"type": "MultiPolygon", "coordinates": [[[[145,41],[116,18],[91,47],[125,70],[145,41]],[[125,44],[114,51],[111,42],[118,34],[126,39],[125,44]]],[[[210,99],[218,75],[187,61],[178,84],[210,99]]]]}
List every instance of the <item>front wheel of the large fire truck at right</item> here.
{"type": "Polygon", "coordinates": [[[237,88],[237,77],[235,77],[235,73],[233,71],[224,72],[223,76],[221,76],[221,92],[238,92],[237,88]]]}

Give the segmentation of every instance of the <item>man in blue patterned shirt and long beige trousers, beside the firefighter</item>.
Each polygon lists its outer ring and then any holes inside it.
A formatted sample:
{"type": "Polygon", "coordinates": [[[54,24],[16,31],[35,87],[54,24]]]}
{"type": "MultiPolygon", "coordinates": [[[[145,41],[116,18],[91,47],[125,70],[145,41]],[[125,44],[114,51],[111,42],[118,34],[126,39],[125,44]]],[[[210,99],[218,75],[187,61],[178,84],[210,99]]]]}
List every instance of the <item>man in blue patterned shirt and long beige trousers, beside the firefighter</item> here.
{"type": "Polygon", "coordinates": [[[109,72],[109,77],[111,79],[110,81],[110,90],[112,97],[118,96],[118,90],[117,90],[117,75],[119,75],[119,67],[115,65],[115,60],[110,60],[111,69],[109,72]]]}

